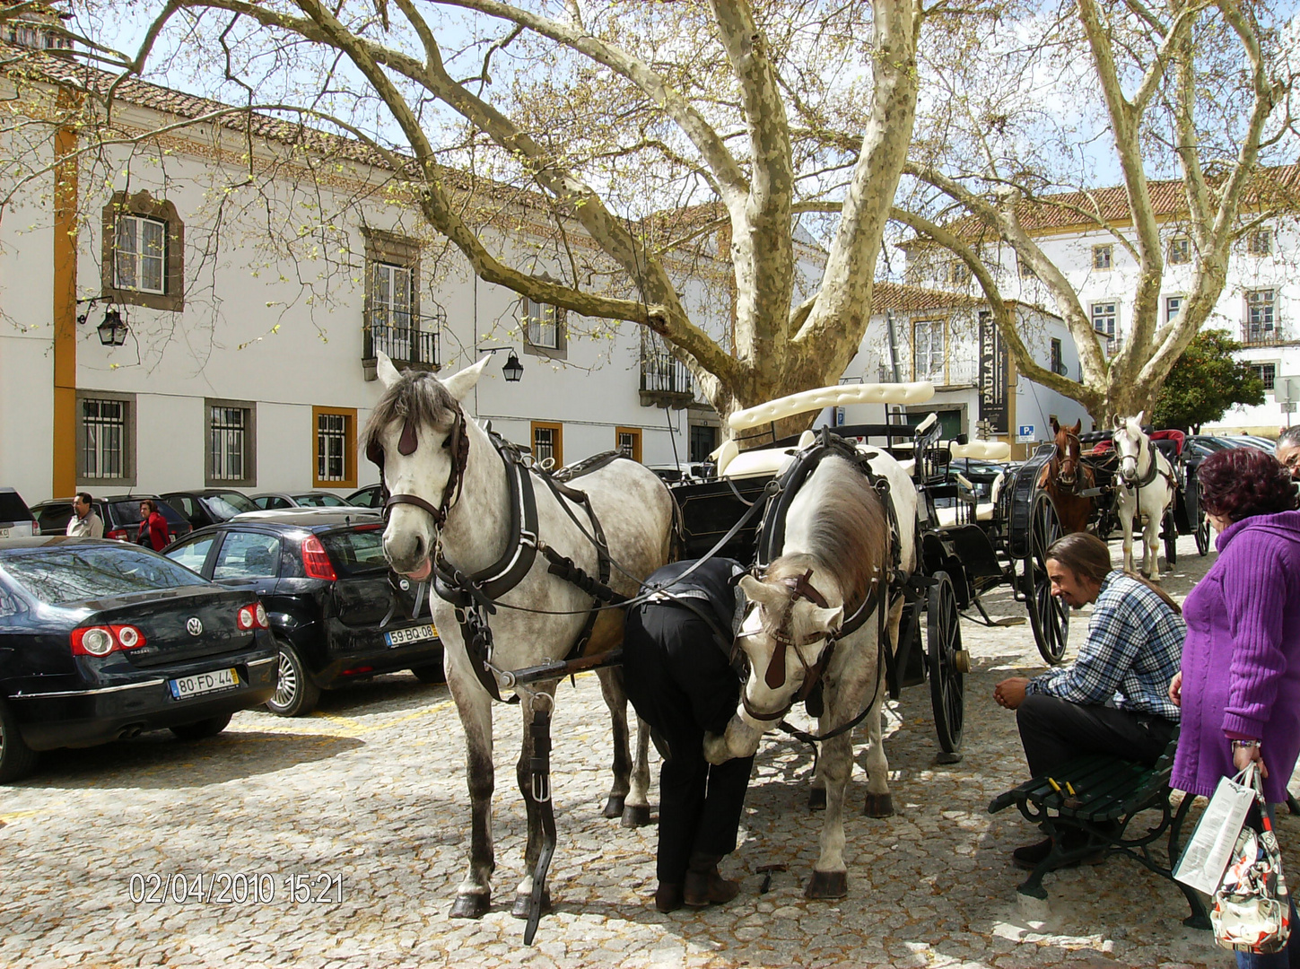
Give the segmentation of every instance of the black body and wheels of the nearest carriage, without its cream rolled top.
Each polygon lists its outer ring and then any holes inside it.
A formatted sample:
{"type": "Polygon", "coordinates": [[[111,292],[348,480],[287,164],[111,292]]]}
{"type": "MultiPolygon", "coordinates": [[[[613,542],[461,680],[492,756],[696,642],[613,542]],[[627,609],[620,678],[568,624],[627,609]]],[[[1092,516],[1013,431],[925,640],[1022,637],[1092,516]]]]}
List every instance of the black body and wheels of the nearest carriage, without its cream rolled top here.
{"type": "MultiPolygon", "coordinates": [[[[1065,653],[1069,614],[1052,598],[1044,570],[1044,553],[1060,527],[1050,501],[1036,492],[1041,463],[1009,468],[998,499],[984,501],[992,496],[982,494],[952,464],[953,453],[965,449],[966,441],[940,442],[939,436],[933,418],[916,427],[823,428],[818,434],[779,440],[762,449],[774,457],[789,455],[788,467],[771,462],[766,472],[737,477],[725,476],[729,470],[724,467],[724,477],[679,485],[673,493],[682,511],[686,557],[698,558],[716,548],[716,554],[741,562],[764,561],[759,548],[763,519],[812,449],[835,442],[913,462],[919,503],[918,570],[905,588],[897,652],[885,650],[885,685],[897,700],[904,687],[930,682],[940,760],[952,762],[961,757],[965,674],[970,671],[970,657],[962,648],[962,614],[974,606],[992,624],[980,596],[1010,585],[1015,598],[1026,602],[1039,649],[1049,662],[1060,662],[1065,653]]],[[[1004,619],[997,624],[1010,623],[1004,619]]]]}

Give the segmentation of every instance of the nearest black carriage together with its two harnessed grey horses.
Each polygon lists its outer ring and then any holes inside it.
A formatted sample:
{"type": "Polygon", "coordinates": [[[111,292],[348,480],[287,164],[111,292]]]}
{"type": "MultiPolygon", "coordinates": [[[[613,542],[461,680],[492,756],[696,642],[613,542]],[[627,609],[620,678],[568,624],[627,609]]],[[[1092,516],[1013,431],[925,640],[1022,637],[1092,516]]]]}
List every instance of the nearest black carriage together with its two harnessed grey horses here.
{"type": "MultiPolygon", "coordinates": [[[[621,675],[611,667],[623,610],[666,592],[640,587],[668,559],[673,501],[636,462],[603,455],[551,473],[471,420],[460,402],[485,364],[443,381],[399,375],[381,355],[387,389],[372,412],[367,454],[390,492],[385,554],[419,587],[416,601],[428,602],[465,731],[473,819],[452,916],[477,918],[491,900],[491,721],[494,702],[514,701],[524,728],[516,778],[528,812],[514,913],[528,918],[524,938],[532,942],[549,905],[555,847],[550,718],[568,675],[594,669],[602,676],[615,777],[606,817],[621,816],[625,826],[650,821],[647,732],[638,730],[633,752],[621,675]]],[[[753,431],[810,410],[914,405],[932,394],[928,384],[826,388],[732,415],[731,424],[753,431]]],[[[866,810],[893,813],[881,744],[885,692],[897,697],[928,679],[940,745],[959,756],[968,671],[962,610],[974,605],[991,622],[980,597],[1010,585],[1044,656],[1056,661],[1065,650],[1067,617],[1044,571],[1060,533],[1039,489],[1045,454],[1009,470],[987,502],[950,471],[954,457],[1005,460],[1008,449],[945,445],[931,415],[915,428],[805,432],[744,453],[731,445],[716,481],[673,490],[685,557],[728,554],[757,566],[741,580],[750,604],[736,639],[748,661],[742,704],[723,735],[706,737],[705,756],[750,756],[794,702],[820,709],[822,734],[805,735],[820,745],[812,800],[820,792],[827,809],[810,897],[848,891],[841,825],[858,723],[870,740],[866,810]]]]}

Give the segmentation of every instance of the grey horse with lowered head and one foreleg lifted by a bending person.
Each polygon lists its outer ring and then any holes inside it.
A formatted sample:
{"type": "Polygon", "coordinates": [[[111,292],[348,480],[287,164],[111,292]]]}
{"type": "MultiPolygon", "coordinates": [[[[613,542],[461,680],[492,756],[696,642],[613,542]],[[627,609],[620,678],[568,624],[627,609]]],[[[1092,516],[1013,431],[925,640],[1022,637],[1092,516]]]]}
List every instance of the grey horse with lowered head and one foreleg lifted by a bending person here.
{"type": "MultiPolygon", "coordinates": [[[[870,467],[889,483],[900,532],[900,572],[910,575],[916,564],[915,485],[888,454],[862,450],[875,454],[870,467]]],[[[879,492],[845,458],[823,458],[789,505],[780,557],[771,562],[762,581],[750,576],[741,580],[754,604],[740,640],[750,672],[727,732],[705,739],[705,756],[711,762],[753,754],[762,734],[798,696],[806,695],[806,682],[820,676],[822,735],[870,708],[866,813],[893,814],[880,722],[885,698],[880,659],[884,648],[897,648],[902,617],[901,598],[894,604],[880,598],[888,592],[892,561],[888,512],[879,492]],[[881,607],[888,610],[885,644],[879,641],[876,610],[881,607]],[[859,610],[863,622],[845,633],[844,624],[859,610]]],[[[814,793],[824,790],[827,812],[807,897],[837,899],[848,894],[844,799],[852,773],[852,731],[823,741],[814,793]]]]}

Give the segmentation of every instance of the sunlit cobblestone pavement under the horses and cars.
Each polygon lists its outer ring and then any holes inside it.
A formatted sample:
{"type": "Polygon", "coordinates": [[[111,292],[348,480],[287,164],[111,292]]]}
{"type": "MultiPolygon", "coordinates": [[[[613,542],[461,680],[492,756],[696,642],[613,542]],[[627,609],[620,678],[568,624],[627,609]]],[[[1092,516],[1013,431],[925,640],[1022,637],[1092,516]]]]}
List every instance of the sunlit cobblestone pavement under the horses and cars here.
{"type": "MultiPolygon", "coordinates": [[[[1166,587],[1180,596],[1212,559],[1190,538],[1179,551],[1166,587]]],[[[993,613],[1023,609],[1004,596],[993,613]]],[[[1041,661],[1027,626],[962,632],[975,661],[966,757],[936,765],[930,689],[905,691],[887,744],[898,814],[848,817],[849,896],[838,903],[803,899],[820,825],[805,808],[811,758],[770,737],[740,849],[724,864],[744,878],[741,897],[658,914],[654,829],[599,817],[608,748],[599,689],[585,676],[562,688],[555,717],[555,914],[525,949],[506,909],[524,813],[517,714],[498,708],[497,897],[481,921],[448,920],[468,839],[460,728],[446,688],[403,675],[329,693],[304,719],[239,714],[204,743],[156,734],[64,752],[0,788],[0,965],[1231,965],[1208,933],[1180,925],[1182,895],[1127,858],[1049,875],[1050,912],[1020,909],[1009,853],[1037,831],[1014,810],[985,813],[1024,774],[1014,717],[991,696],[996,680],[1041,661]],[[759,894],[757,870],[774,862],[789,873],[759,894]],[[237,900],[173,897],[200,875],[203,894],[216,883],[237,900]]],[[[864,790],[859,748],[852,801],[864,790]]],[[[1280,831],[1297,843],[1300,821],[1283,818],[1280,831]]]]}

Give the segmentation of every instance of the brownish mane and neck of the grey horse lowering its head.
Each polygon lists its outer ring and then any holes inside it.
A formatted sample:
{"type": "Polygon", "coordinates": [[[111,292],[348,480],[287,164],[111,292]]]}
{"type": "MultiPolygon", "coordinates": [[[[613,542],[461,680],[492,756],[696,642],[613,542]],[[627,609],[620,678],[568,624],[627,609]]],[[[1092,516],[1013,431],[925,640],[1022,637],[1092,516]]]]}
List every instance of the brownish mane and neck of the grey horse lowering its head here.
{"type": "MultiPolygon", "coordinates": [[[[826,476],[823,503],[809,529],[809,549],[781,555],[767,567],[764,581],[780,583],[809,568],[829,572],[844,594],[844,615],[853,615],[872,592],[872,580],[884,581],[889,522],[880,493],[855,467],[842,459],[822,462],[815,475],[826,476]]],[[[790,605],[793,605],[790,598],[790,605]]],[[[783,611],[789,611],[783,610],[783,611]]],[[[776,626],[785,617],[770,617],[776,626]]],[[[774,626],[774,628],[776,628],[774,626]]],[[[805,637],[806,630],[790,630],[805,637]]]]}

